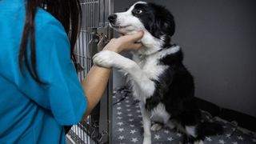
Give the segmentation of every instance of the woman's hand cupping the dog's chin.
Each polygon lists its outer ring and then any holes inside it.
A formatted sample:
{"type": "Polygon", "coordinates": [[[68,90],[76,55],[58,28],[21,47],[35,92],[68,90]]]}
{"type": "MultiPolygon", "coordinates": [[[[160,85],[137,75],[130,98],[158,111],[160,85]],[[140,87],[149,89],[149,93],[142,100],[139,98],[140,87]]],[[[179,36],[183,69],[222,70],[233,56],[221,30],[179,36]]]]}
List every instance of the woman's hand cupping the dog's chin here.
{"type": "Polygon", "coordinates": [[[141,42],[137,42],[143,37],[144,32],[137,34],[124,35],[119,38],[112,38],[110,42],[104,47],[103,50],[111,50],[116,53],[122,51],[138,50],[142,47],[141,42]]]}

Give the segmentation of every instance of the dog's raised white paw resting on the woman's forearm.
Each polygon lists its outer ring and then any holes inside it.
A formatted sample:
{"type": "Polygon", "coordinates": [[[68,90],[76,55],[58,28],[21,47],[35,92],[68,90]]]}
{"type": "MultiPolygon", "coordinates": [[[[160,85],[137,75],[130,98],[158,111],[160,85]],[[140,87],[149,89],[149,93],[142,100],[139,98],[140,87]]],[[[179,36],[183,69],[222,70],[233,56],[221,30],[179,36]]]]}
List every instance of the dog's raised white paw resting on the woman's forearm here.
{"type": "Polygon", "coordinates": [[[114,62],[117,61],[116,57],[117,53],[110,50],[102,50],[94,55],[93,60],[95,65],[110,68],[114,66],[114,62]]]}

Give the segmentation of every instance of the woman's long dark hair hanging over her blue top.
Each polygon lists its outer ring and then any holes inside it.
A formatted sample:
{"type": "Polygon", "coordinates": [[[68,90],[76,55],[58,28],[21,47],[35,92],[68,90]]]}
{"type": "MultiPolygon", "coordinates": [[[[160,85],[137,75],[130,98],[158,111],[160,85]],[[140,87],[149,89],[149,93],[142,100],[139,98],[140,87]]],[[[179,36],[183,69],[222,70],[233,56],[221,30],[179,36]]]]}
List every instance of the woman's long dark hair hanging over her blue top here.
{"type": "Polygon", "coordinates": [[[22,42],[18,54],[19,69],[22,71],[22,60],[25,60],[26,69],[38,83],[44,83],[38,77],[36,70],[36,47],[35,47],[35,23],[34,18],[37,8],[42,7],[62,23],[66,34],[70,39],[70,58],[76,66],[74,46],[78,37],[81,22],[81,7],[79,0],[26,0],[26,18],[22,33],[22,42]],[[28,41],[30,39],[30,41],[28,41]],[[30,47],[27,43],[30,42],[30,47]],[[28,49],[30,48],[30,58],[28,49]],[[30,66],[31,65],[31,66],[30,66]]]}

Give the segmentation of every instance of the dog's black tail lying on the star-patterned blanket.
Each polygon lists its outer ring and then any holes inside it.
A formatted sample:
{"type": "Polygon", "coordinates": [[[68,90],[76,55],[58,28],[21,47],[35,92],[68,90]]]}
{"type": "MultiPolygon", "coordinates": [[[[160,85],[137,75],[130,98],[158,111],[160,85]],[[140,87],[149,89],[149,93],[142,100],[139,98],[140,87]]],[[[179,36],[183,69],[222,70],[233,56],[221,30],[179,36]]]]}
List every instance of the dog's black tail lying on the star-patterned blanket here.
{"type": "Polygon", "coordinates": [[[216,122],[202,122],[199,127],[199,133],[203,136],[222,134],[223,127],[221,124],[216,122]]]}

